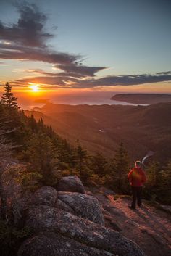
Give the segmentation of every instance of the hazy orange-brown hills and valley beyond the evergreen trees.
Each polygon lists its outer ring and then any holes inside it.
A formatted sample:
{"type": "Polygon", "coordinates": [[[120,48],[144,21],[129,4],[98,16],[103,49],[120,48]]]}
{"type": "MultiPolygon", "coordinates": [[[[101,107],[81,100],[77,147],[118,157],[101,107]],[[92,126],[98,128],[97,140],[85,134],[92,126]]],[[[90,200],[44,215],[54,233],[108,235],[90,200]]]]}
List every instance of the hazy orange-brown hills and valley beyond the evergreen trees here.
{"type": "Polygon", "coordinates": [[[112,157],[123,142],[133,158],[141,159],[149,150],[156,152],[157,159],[170,157],[171,102],[149,106],[46,104],[32,113],[72,144],[79,139],[91,152],[112,157]]]}

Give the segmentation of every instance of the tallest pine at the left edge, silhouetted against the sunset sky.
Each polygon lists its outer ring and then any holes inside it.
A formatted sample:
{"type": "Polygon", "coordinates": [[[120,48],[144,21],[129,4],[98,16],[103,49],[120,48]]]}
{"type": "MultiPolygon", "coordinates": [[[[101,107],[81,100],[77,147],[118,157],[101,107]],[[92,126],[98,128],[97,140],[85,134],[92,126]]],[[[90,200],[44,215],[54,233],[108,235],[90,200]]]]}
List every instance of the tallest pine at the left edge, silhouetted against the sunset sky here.
{"type": "Polygon", "coordinates": [[[12,93],[12,86],[10,86],[9,83],[6,83],[4,88],[5,92],[3,96],[1,96],[1,104],[4,104],[9,108],[18,109],[17,98],[12,93]]]}

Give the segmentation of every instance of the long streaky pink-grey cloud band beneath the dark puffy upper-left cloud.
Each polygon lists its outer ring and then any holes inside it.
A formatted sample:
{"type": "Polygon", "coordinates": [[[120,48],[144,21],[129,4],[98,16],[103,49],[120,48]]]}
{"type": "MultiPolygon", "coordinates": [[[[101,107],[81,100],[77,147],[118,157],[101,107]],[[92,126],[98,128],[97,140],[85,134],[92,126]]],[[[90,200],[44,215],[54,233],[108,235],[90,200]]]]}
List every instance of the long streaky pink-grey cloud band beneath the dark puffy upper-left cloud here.
{"type": "Polygon", "coordinates": [[[17,44],[0,43],[1,59],[17,59],[41,61],[54,64],[60,70],[72,73],[74,77],[94,76],[105,67],[88,67],[81,65],[79,62],[80,55],[67,54],[63,52],[55,52],[51,49],[32,48],[25,46],[17,46],[17,44]]]}

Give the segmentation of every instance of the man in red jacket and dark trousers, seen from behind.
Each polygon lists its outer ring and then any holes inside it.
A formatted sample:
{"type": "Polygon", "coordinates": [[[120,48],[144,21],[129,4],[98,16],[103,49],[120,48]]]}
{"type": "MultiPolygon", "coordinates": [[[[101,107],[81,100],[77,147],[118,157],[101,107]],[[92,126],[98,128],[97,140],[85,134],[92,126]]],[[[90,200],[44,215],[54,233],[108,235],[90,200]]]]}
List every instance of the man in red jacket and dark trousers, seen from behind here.
{"type": "Polygon", "coordinates": [[[130,181],[130,186],[132,187],[133,191],[133,201],[132,204],[129,206],[130,209],[136,209],[136,201],[138,202],[138,206],[141,207],[141,193],[143,183],[146,182],[146,175],[141,169],[141,162],[135,162],[135,168],[130,170],[128,173],[128,180],[130,181]]]}

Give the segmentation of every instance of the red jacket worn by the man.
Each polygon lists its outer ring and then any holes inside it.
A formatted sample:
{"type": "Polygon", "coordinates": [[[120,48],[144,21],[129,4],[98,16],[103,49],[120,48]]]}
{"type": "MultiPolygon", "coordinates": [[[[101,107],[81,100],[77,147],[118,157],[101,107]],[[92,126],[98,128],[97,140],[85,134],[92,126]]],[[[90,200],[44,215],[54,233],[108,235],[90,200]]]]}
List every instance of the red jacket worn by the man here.
{"type": "Polygon", "coordinates": [[[141,168],[133,168],[128,173],[128,180],[131,186],[143,186],[146,182],[146,175],[141,168]]]}

